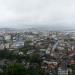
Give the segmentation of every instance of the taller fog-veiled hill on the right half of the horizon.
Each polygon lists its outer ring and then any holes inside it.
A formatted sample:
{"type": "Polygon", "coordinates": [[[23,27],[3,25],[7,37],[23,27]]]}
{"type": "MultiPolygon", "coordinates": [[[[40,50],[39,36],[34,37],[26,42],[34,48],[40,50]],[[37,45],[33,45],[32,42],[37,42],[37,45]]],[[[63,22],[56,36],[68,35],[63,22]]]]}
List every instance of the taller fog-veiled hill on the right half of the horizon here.
{"type": "Polygon", "coordinates": [[[28,28],[29,31],[75,31],[75,27],[66,25],[40,25],[28,28]]]}

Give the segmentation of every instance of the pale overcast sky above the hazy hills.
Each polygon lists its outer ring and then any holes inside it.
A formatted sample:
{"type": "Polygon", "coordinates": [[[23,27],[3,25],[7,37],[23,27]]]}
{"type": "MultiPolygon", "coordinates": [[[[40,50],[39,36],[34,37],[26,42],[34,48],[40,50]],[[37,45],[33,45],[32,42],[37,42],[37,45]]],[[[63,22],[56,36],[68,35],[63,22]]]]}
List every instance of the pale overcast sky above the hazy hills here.
{"type": "Polygon", "coordinates": [[[0,26],[11,27],[11,23],[15,27],[38,24],[73,27],[75,0],[0,0],[0,26]]]}

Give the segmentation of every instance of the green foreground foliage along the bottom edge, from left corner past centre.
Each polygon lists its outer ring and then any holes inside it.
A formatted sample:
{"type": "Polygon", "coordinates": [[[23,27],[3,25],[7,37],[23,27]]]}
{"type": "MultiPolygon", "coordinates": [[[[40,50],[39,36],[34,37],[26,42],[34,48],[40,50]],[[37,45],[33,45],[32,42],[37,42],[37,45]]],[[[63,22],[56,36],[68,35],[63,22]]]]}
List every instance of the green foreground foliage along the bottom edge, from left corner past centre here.
{"type": "Polygon", "coordinates": [[[0,75],[44,75],[40,69],[26,69],[22,64],[8,65],[0,75]]]}

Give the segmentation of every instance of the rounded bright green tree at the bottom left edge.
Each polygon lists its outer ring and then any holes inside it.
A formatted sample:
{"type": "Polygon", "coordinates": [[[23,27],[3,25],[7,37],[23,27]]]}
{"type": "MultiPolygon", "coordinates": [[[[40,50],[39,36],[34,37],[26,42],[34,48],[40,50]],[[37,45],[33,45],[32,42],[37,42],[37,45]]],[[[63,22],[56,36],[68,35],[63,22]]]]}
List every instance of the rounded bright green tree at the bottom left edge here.
{"type": "Polygon", "coordinates": [[[4,69],[3,75],[25,75],[25,71],[22,64],[12,64],[4,69]]]}

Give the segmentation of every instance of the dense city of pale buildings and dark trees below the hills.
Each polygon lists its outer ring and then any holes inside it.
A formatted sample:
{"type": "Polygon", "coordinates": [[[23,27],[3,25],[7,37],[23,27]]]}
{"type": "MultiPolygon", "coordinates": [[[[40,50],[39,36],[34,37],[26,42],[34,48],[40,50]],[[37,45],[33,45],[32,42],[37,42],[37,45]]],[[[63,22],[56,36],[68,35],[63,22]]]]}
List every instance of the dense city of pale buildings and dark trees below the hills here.
{"type": "Polygon", "coordinates": [[[75,75],[75,32],[0,32],[0,75],[75,75]]]}

